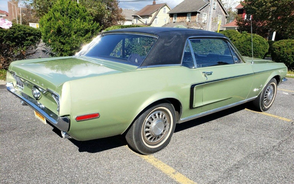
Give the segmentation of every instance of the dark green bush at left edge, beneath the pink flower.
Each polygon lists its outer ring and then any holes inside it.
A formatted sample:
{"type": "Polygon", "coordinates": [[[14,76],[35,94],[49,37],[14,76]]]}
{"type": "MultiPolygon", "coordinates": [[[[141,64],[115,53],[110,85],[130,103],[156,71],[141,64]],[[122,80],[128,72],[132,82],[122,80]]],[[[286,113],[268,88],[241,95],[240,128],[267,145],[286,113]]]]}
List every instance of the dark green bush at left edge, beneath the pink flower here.
{"type": "Polygon", "coordinates": [[[40,30],[30,26],[13,24],[10,29],[0,28],[0,69],[8,69],[11,62],[35,54],[40,40],[40,30]]]}

